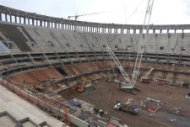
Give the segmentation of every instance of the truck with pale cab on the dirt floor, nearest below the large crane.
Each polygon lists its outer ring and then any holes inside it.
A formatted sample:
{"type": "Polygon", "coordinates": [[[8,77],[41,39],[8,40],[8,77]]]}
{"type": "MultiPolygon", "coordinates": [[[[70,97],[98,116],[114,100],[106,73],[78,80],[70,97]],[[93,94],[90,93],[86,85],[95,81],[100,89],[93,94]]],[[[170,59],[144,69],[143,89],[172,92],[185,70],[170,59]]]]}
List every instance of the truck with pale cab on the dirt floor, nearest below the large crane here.
{"type": "Polygon", "coordinates": [[[125,103],[116,101],[114,103],[114,109],[118,111],[127,112],[132,115],[137,115],[140,111],[140,108],[138,107],[137,103],[133,99],[128,99],[128,101],[125,103]]]}

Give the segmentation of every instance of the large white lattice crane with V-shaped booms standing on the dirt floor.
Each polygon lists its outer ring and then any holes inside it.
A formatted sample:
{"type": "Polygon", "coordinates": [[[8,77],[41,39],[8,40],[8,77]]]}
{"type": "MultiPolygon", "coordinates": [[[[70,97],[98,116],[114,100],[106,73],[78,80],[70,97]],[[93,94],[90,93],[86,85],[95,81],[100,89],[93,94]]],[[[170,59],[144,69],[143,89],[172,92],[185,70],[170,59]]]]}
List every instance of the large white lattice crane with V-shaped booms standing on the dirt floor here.
{"type": "MultiPolygon", "coordinates": [[[[145,18],[144,18],[144,23],[143,23],[143,30],[146,29],[146,31],[147,31],[146,34],[148,33],[148,30],[149,30],[149,24],[150,24],[153,4],[154,4],[154,0],[148,0],[147,9],[146,9],[145,18]]],[[[112,57],[114,63],[116,64],[117,68],[119,69],[122,76],[124,77],[124,80],[125,80],[124,82],[116,80],[116,82],[119,83],[119,85],[118,85],[119,88],[122,89],[122,90],[127,90],[127,91],[137,90],[138,91],[138,89],[135,88],[134,86],[135,86],[135,84],[137,82],[137,78],[138,78],[138,75],[139,75],[139,70],[140,70],[140,66],[141,66],[141,60],[142,60],[142,56],[143,56],[143,53],[144,53],[145,39],[147,37],[146,34],[144,36],[143,32],[142,32],[140,42],[139,42],[139,45],[138,45],[137,57],[136,57],[136,60],[135,60],[135,65],[134,65],[134,69],[133,69],[133,73],[132,73],[131,78],[129,77],[129,75],[127,74],[127,72],[125,71],[125,69],[123,68],[121,63],[119,62],[117,56],[114,54],[112,49],[109,46],[107,46],[109,55],[112,57]]]]}

